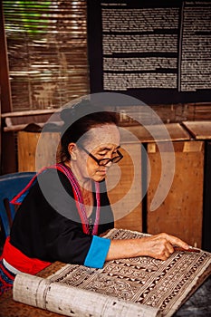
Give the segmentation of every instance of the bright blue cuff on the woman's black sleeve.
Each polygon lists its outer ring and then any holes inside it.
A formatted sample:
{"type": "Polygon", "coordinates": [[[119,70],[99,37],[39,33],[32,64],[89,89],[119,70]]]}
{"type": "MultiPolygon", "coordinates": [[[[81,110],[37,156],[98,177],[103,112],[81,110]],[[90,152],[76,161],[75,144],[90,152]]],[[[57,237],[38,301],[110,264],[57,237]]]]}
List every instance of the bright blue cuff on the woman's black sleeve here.
{"type": "Polygon", "coordinates": [[[110,248],[110,239],[93,235],[91,247],[86,255],[84,265],[101,269],[110,248]]]}

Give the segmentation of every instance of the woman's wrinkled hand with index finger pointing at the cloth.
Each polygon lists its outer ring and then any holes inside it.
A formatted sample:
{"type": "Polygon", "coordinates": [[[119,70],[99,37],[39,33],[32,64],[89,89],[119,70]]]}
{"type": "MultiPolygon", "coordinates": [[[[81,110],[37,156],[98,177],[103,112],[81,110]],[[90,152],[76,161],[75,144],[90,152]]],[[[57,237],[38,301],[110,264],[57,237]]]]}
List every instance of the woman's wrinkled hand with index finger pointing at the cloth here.
{"type": "Polygon", "coordinates": [[[154,257],[159,260],[167,260],[174,253],[174,245],[188,249],[187,243],[174,235],[158,234],[145,236],[140,239],[144,255],[154,257]]]}

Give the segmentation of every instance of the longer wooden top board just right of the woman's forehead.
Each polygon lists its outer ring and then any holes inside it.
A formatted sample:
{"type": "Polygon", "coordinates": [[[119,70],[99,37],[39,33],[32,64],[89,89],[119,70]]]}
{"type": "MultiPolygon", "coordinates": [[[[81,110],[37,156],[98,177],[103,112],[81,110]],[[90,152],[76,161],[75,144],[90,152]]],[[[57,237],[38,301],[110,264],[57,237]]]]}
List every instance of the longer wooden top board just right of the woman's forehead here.
{"type": "MultiPolygon", "coordinates": [[[[142,143],[155,141],[170,140],[187,140],[190,139],[187,130],[179,123],[167,123],[165,125],[150,125],[150,126],[134,126],[127,127],[127,130],[132,133],[142,143]]],[[[125,134],[125,139],[127,136],[125,134]]]]}

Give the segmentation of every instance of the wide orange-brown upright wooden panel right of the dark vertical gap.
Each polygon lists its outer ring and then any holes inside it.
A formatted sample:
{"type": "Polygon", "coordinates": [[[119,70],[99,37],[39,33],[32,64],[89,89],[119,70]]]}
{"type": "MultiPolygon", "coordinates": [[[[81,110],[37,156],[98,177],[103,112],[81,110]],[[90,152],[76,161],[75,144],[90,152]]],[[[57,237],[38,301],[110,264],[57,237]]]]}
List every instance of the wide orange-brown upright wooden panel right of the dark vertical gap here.
{"type": "MultiPolygon", "coordinates": [[[[203,218],[204,142],[178,141],[175,148],[175,172],[168,196],[154,211],[150,205],[161,175],[160,153],[155,145],[148,145],[149,190],[147,223],[149,234],[167,232],[177,235],[190,245],[201,247],[203,218]]],[[[162,155],[168,157],[165,147],[162,155]]],[[[166,176],[168,178],[168,175],[166,176]]],[[[159,184],[159,187],[165,184],[159,184]]]]}

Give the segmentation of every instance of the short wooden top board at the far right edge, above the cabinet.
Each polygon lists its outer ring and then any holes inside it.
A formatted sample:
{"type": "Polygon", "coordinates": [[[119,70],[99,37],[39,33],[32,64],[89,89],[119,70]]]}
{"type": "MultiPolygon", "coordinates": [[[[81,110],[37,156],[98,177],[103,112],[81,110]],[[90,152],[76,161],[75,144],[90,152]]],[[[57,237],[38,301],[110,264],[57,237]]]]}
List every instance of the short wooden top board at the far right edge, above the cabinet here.
{"type": "Polygon", "coordinates": [[[185,121],[183,126],[195,139],[211,139],[211,120],[185,121]]]}

